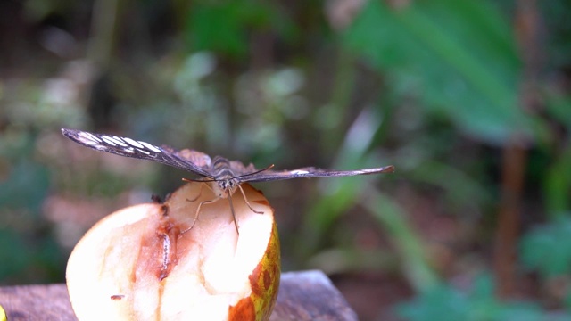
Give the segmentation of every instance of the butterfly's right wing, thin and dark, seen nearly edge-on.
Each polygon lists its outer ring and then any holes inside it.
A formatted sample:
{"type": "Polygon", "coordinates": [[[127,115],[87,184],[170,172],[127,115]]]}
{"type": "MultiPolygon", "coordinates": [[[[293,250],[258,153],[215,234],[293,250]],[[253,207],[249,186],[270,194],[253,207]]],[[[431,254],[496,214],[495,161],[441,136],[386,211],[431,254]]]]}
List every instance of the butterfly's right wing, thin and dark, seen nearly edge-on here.
{"type": "Polygon", "coordinates": [[[391,173],[394,171],[393,166],[385,166],[377,169],[359,169],[359,170],[329,170],[316,168],[302,168],[294,170],[273,171],[266,170],[261,173],[252,174],[250,176],[240,177],[243,182],[268,182],[273,180],[304,178],[304,177],[347,177],[356,175],[371,175],[380,173],[391,173]]]}

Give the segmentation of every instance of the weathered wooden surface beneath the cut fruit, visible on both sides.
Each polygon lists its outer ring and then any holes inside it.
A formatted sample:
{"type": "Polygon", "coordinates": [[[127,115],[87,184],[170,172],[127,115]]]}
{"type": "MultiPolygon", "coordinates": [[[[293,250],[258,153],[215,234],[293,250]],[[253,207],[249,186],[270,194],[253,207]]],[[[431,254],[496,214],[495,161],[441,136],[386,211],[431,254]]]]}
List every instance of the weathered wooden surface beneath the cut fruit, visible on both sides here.
{"type": "MultiPolygon", "coordinates": [[[[0,287],[0,305],[8,321],[75,321],[65,284],[0,287]]],[[[271,321],[357,320],[331,280],[321,271],[282,274],[271,321]]]]}

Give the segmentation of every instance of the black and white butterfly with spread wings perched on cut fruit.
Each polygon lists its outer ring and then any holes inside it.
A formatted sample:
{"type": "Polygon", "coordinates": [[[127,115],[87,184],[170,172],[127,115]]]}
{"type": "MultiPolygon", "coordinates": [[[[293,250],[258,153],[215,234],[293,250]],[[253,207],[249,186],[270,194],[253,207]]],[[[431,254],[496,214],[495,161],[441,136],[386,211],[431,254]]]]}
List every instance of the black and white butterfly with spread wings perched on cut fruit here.
{"type": "MultiPolygon", "coordinates": [[[[232,211],[236,233],[239,232],[231,197],[234,192],[236,192],[236,189],[240,190],[250,210],[259,214],[263,213],[252,209],[251,204],[245,197],[244,190],[240,186],[242,183],[268,182],[303,177],[347,177],[390,173],[394,171],[394,167],[391,165],[377,169],[358,170],[329,170],[307,167],[302,169],[276,171],[271,170],[274,167],[272,164],[264,169],[256,169],[252,163],[245,166],[240,161],[228,161],[221,156],[214,156],[211,158],[203,152],[189,149],[177,151],[166,145],[162,145],[160,147],[128,137],[94,134],[86,131],[66,128],[62,128],[62,134],[63,136],[70,138],[72,141],[91,149],[95,149],[96,151],[110,152],[116,155],[140,160],[158,161],[174,168],[194,173],[201,178],[183,178],[183,180],[209,183],[208,186],[216,197],[210,201],[203,201],[198,205],[194,216],[194,223],[196,223],[196,220],[198,219],[198,214],[203,204],[216,202],[219,199],[226,198],[228,199],[230,210],[232,211]]],[[[198,197],[200,197],[200,195],[198,197]]],[[[198,197],[196,197],[195,200],[197,200],[198,197]]],[[[189,201],[194,202],[195,200],[189,201]]],[[[191,229],[194,226],[194,223],[186,230],[191,229]]]]}

